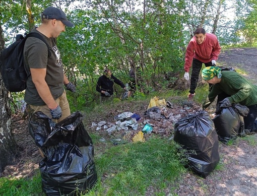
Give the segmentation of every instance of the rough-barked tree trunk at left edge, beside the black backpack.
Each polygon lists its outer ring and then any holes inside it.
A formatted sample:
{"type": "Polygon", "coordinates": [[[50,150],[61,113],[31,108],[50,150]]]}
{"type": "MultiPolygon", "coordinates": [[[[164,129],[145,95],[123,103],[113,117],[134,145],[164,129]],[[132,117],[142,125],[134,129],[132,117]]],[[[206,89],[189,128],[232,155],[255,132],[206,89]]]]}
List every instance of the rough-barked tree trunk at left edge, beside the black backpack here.
{"type": "MultiPolygon", "coordinates": [[[[0,51],[4,48],[3,29],[0,25],[0,51]]],[[[12,164],[17,155],[17,144],[12,135],[11,110],[8,103],[8,90],[4,87],[2,76],[0,74],[0,173],[4,171],[5,166],[12,164]]]]}

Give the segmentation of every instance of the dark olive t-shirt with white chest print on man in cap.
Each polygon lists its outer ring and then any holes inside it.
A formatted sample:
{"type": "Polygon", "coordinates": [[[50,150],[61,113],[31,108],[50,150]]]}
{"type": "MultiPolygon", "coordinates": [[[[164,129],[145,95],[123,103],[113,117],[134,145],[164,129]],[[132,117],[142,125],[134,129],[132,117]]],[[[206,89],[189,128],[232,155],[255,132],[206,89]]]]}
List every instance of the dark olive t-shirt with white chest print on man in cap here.
{"type": "MultiPolygon", "coordinates": [[[[36,29],[32,32],[41,34],[36,29]]],[[[35,37],[29,37],[24,46],[24,61],[26,72],[29,75],[24,101],[31,105],[45,105],[39,96],[37,89],[32,82],[30,68],[46,68],[45,81],[50,89],[54,99],[57,99],[63,93],[63,68],[59,50],[56,46],[55,38],[48,38],[41,34],[51,46],[51,55],[48,57],[48,48],[43,41],[35,37]]]]}

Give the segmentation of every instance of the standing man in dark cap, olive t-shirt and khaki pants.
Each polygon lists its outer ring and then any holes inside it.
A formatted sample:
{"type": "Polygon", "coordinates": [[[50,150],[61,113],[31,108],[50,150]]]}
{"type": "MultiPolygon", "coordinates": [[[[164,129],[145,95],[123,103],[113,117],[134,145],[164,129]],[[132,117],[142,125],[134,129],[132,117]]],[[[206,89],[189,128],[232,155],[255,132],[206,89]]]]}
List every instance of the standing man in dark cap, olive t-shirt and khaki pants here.
{"type": "Polygon", "coordinates": [[[63,73],[62,60],[56,46],[56,38],[65,31],[65,27],[74,24],[67,20],[66,14],[58,9],[49,7],[41,14],[41,25],[32,32],[39,33],[49,43],[40,39],[28,37],[24,46],[25,68],[28,74],[27,88],[24,100],[33,112],[42,111],[57,122],[68,117],[69,102],[65,89],[76,91],[74,84],[69,82],[63,73]]]}

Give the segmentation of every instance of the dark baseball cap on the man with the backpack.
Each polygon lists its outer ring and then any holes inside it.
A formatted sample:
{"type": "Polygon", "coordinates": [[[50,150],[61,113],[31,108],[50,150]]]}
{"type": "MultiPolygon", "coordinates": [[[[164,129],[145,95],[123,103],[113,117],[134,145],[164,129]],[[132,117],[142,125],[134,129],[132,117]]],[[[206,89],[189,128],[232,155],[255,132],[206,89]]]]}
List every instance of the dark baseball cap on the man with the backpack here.
{"type": "Polygon", "coordinates": [[[42,18],[45,19],[56,19],[60,20],[63,24],[67,27],[73,27],[74,24],[67,20],[66,14],[58,8],[48,7],[46,8],[43,13],[41,14],[42,18]]]}

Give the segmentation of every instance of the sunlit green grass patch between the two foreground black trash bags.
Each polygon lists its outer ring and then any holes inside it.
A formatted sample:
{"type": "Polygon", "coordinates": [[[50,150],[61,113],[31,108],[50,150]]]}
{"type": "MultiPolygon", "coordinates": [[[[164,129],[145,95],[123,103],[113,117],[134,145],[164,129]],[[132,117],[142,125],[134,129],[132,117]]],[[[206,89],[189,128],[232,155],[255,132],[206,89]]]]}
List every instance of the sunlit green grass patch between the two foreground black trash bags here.
{"type": "Polygon", "coordinates": [[[99,195],[145,195],[147,187],[167,187],[185,171],[173,142],[151,138],[108,148],[95,160],[106,186],[99,195]]]}

